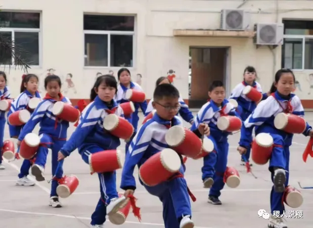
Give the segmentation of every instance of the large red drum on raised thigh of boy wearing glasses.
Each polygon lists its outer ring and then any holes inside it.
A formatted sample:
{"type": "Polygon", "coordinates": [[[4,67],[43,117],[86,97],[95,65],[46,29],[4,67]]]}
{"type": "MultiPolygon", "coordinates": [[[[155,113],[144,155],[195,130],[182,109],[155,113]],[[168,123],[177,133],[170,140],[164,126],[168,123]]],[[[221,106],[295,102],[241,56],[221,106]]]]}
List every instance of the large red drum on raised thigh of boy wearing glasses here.
{"type": "Polygon", "coordinates": [[[140,166],[139,178],[146,186],[156,186],[178,172],[181,165],[180,156],[175,151],[164,149],[140,166]]]}

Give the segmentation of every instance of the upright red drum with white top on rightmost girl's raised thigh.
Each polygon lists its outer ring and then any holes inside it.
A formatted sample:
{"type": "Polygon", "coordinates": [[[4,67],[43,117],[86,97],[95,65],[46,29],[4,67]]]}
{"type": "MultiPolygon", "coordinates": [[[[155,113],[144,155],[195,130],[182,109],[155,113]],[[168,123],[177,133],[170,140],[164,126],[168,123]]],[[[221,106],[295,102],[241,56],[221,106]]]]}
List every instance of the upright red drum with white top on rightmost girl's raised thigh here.
{"type": "Polygon", "coordinates": [[[269,133],[259,133],[252,142],[251,158],[255,164],[265,165],[271,158],[274,140],[269,133]]]}

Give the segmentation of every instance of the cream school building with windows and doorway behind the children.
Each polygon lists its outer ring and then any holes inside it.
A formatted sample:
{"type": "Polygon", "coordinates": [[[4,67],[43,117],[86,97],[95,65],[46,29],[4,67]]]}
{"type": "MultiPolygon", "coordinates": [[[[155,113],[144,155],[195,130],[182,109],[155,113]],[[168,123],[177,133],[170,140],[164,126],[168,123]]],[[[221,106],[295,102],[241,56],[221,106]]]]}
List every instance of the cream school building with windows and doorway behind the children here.
{"type": "MultiPolygon", "coordinates": [[[[0,33],[26,52],[17,53],[29,72],[62,78],[74,103],[88,99],[98,74],[127,67],[151,99],[160,76],[191,107],[207,100],[212,80],[225,82],[227,96],[252,65],[264,92],[279,68],[291,68],[295,93],[313,108],[313,1],[213,0],[2,0],[0,33]]],[[[13,97],[22,71],[8,65],[13,97]]]]}

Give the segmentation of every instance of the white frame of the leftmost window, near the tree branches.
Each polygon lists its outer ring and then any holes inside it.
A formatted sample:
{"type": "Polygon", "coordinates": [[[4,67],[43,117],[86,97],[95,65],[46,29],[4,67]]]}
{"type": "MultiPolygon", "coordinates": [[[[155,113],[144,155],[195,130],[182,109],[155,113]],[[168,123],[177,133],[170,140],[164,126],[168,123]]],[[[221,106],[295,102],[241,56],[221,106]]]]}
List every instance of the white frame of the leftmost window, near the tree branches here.
{"type": "MultiPolygon", "coordinates": [[[[37,32],[38,33],[38,50],[39,50],[39,59],[38,65],[29,65],[32,69],[41,68],[42,66],[42,34],[41,34],[41,26],[42,26],[42,12],[40,11],[17,11],[17,10],[3,10],[1,12],[9,12],[9,13],[38,13],[39,14],[39,28],[1,28],[0,32],[11,32],[12,40],[15,41],[15,32],[37,32]]],[[[13,44],[14,47],[14,44],[13,44]]],[[[15,64],[14,57],[12,56],[12,65],[15,64]]],[[[3,67],[9,67],[10,65],[1,65],[3,67]]]]}

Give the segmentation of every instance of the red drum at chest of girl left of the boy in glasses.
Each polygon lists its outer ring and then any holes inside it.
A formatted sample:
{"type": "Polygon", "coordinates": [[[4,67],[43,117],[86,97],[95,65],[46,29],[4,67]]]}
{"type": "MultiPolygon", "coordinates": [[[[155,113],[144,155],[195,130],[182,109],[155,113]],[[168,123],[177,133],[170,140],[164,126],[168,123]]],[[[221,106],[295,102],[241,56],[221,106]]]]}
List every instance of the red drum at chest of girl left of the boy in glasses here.
{"type": "Polygon", "coordinates": [[[104,118],[103,127],[117,138],[128,140],[133,134],[133,126],[124,118],[109,114],[104,118]]]}

